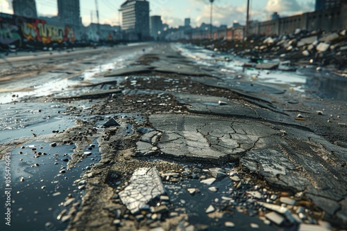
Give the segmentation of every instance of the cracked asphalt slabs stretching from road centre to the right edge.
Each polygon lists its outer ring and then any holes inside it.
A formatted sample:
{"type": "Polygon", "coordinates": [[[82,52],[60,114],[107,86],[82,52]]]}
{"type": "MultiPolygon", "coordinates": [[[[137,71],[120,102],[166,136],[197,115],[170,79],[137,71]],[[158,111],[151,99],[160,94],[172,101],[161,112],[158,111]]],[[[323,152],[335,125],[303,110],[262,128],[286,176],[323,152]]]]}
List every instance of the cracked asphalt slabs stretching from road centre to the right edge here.
{"type": "Polygon", "coordinates": [[[151,135],[162,136],[156,144],[142,139],[137,155],[219,165],[239,160],[243,169],[270,185],[304,192],[328,218],[346,221],[347,207],[339,201],[346,195],[347,174],[341,159],[331,154],[341,156],[346,149],[310,131],[269,122],[173,114],[150,115],[149,122],[155,129],[151,135]]]}

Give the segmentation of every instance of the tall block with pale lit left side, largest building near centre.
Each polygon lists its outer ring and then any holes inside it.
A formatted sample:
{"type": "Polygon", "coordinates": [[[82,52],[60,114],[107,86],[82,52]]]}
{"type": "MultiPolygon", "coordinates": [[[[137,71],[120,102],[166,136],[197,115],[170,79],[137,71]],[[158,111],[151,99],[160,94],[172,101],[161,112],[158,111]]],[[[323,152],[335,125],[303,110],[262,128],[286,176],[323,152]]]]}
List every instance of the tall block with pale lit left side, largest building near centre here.
{"type": "Polygon", "coordinates": [[[149,2],[127,0],[121,5],[122,30],[133,39],[146,39],[149,33],[149,2]]]}

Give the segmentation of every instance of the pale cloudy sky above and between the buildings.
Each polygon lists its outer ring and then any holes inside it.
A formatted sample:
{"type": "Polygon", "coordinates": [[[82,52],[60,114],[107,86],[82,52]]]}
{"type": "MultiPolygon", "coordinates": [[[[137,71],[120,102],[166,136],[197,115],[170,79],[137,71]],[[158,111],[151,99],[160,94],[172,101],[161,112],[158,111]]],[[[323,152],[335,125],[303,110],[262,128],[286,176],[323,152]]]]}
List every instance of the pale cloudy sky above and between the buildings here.
{"type": "MultiPolygon", "coordinates": [[[[65,0],[69,1],[69,0],[65,0]]],[[[119,8],[125,0],[97,0],[101,24],[121,24],[119,8]]],[[[191,19],[191,26],[210,24],[210,0],[148,0],[150,16],[160,15],[164,24],[170,27],[184,25],[185,18],[191,19]]],[[[314,11],[314,0],[251,0],[250,19],[265,21],[273,12],[280,17],[314,11]]],[[[80,0],[82,23],[88,26],[96,23],[95,0],[80,0]]],[[[36,0],[39,16],[58,15],[57,0],[36,0]]],[[[247,0],[214,0],[212,3],[212,24],[232,26],[234,21],[245,24],[247,0]]],[[[0,12],[12,14],[12,0],[0,0],[0,12]]]]}

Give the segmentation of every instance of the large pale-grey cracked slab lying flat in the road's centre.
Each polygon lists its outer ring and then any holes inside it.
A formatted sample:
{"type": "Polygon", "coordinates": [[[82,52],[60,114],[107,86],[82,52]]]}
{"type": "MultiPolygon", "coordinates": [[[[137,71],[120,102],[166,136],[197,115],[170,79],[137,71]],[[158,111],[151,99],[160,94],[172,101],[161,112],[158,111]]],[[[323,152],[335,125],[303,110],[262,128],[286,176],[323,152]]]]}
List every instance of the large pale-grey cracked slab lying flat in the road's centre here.
{"type": "Polygon", "coordinates": [[[160,155],[220,163],[235,160],[253,147],[264,147],[266,136],[280,134],[280,131],[251,121],[184,115],[151,115],[149,120],[156,131],[147,133],[151,137],[146,136],[137,143],[139,156],[157,147],[156,153],[160,155]],[[159,132],[162,134],[158,143],[153,145],[152,138],[159,132]]]}

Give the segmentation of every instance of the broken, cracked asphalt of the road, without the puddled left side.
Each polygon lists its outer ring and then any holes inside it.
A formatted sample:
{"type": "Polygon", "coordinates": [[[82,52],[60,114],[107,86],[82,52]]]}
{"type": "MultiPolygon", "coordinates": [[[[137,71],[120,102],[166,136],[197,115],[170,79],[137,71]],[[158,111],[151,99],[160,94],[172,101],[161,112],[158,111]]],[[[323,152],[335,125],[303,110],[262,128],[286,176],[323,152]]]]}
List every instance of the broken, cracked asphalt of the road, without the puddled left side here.
{"type": "Polygon", "coordinates": [[[64,95],[15,100],[16,107],[42,107],[44,115],[76,121],[34,138],[32,133],[7,138],[1,154],[35,140],[74,145],[67,169],[94,161],[72,185],[78,187],[72,196],[81,203],[62,203],[66,211],[53,225],[65,224],[67,230],[347,227],[346,102],[221,73],[216,62],[205,66],[183,57],[175,44],[144,47],[136,59],[117,64],[121,68],[100,68],[94,79],[74,76],[80,84],[64,95]],[[53,103],[58,113],[52,112],[53,103]],[[324,115],[317,115],[322,109],[324,115]],[[116,122],[103,126],[110,118],[116,122]],[[100,160],[85,154],[93,140],[100,160]]]}

